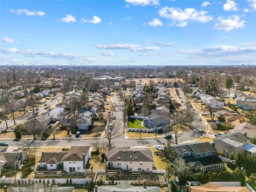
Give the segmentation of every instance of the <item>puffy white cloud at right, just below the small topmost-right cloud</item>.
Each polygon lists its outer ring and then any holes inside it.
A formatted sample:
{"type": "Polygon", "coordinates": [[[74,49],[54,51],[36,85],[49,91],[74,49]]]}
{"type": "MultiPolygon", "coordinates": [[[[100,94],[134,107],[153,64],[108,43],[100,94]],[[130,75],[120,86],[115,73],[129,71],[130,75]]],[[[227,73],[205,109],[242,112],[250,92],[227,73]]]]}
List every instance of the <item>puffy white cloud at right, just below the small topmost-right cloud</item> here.
{"type": "Polygon", "coordinates": [[[228,17],[228,19],[223,19],[222,17],[219,17],[218,20],[219,23],[216,23],[214,28],[216,30],[225,30],[230,31],[233,29],[238,29],[245,26],[246,21],[240,20],[238,15],[233,15],[228,17]]]}

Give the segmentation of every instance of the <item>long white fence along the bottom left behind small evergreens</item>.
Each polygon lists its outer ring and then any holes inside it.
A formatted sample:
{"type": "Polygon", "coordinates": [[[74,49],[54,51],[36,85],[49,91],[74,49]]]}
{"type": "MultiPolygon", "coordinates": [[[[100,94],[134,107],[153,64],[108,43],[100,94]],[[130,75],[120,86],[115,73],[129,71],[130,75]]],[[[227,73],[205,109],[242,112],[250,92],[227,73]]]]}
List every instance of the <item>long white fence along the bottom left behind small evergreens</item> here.
{"type": "MultiPolygon", "coordinates": [[[[52,180],[53,179],[41,179],[41,183],[49,183],[52,184],[52,180]]],[[[92,179],[64,179],[64,178],[55,178],[54,182],[55,184],[66,184],[68,180],[68,183],[70,184],[70,180],[72,180],[72,184],[86,184],[86,182],[89,184],[92,179]]],[[[40,181],[40,179],[20,179],[20,178],[16,178],[16,183],[28,183],[28,182],[33,182],[36,183],[40,181]]],[[[0,183],[2,184],[12,184],[15,183],[15,179],[14,178],[0,178],[0,183]]]]}

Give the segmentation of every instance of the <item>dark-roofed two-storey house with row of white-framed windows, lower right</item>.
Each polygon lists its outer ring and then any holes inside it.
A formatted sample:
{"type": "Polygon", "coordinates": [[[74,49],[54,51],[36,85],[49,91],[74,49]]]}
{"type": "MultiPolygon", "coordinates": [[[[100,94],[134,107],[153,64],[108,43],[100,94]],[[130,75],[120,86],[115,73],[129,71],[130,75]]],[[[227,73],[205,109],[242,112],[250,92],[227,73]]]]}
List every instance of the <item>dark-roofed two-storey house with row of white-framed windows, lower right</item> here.
{"type": "Polygon", "coordinates": [[[209,142],[196,142],[172,146],[186,164],[199,166],[204,171],[224,170],[224,162],[218,157],[217,150],[209,142]]]}

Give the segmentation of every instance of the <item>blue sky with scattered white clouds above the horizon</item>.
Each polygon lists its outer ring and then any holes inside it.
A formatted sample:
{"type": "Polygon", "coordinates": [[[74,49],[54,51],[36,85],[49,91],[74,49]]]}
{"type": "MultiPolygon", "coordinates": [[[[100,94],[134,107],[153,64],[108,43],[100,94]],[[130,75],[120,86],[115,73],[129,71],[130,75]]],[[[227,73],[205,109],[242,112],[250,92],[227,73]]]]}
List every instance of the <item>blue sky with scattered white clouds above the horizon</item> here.
{"type": "Polygon", "coordinates": [[[256,64],[256,0],[0,1],[1,65],[256,64]]]}

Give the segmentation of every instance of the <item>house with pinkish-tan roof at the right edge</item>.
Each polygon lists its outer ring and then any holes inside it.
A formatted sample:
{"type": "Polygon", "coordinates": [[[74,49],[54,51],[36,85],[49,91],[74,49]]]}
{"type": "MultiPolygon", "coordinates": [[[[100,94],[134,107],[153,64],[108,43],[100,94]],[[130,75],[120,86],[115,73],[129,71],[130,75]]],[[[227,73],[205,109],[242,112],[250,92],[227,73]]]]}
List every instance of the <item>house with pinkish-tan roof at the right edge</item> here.
{"type": "Polygon", "coordinates": [[[235,124],[234,129],[230,129],[228,130],[228,132],[232,132],[232,133],[242,133],[244,134],[245,132],[247,133],[246,136],[248,138],[254,138],[256,137],[256,126],[254,126],[253,124],[249,123],[249,122],[238,122],[235,124]]]}

